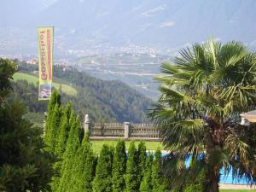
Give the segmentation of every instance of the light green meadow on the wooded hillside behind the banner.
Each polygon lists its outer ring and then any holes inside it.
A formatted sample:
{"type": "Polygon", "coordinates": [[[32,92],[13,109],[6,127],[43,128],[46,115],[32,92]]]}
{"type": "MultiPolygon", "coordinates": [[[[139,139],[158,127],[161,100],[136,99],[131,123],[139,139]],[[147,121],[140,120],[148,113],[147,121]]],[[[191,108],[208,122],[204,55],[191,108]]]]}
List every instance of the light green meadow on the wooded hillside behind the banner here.
{"type": "MultiPolygon", "coordinates": [[[[15,73],[14,80],[26,80],[29,83],[37,84],[38,78],[33,75],[26,74],[26,73],[15,73]]],[[[69,96],[75,96],[77,94],[77,90],[67,84],[59,84],[53,83],[55,89],[59,90],[61,86],[61,90],[69,96]]]]}

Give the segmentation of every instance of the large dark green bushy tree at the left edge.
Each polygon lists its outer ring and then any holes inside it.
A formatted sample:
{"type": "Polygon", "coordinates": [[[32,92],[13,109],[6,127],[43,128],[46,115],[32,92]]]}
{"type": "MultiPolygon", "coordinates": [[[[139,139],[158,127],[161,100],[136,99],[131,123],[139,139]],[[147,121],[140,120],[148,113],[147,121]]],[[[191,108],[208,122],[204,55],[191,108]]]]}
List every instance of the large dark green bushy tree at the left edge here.
{"type": "Polygon", "coordinates": [[[48,191],[56,158],[44,150],[42,129],[24,118],[24,105],[6,99],[15,71],[0,59],[0,191],[48,191]]]}

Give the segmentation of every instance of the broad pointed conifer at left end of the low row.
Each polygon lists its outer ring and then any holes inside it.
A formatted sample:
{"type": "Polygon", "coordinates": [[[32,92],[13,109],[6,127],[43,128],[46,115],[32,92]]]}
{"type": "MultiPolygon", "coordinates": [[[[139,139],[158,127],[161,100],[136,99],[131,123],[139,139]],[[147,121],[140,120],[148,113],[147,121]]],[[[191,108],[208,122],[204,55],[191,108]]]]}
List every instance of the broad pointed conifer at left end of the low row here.
{"type": "Polygon", "coordinates": [[[96,177],[93,180],[94,192],[110,192],[112,191],[111,182],[111,159],[112,154],[108,145],[103,145],[96,166],[96,177]]]}

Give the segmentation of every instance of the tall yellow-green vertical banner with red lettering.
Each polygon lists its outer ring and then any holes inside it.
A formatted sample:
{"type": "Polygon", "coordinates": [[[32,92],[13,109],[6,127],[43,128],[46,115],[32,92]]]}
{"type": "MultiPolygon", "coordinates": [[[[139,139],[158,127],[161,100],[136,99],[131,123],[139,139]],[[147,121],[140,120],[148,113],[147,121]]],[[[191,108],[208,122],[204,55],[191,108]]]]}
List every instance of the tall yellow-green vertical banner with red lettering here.
{"type": "Polygon", "coordinates": [[[53,26],[38,27],[38,100],[49,100],[51,96],[53,67],[53,26]]]}

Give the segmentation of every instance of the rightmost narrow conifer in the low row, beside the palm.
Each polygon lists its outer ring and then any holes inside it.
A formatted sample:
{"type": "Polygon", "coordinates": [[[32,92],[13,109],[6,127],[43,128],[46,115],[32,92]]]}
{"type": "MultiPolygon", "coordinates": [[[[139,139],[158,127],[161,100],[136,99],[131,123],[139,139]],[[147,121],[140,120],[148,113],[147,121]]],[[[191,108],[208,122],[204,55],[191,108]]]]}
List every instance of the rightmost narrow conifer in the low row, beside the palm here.
{"type": "Polygon", "coordinates": [[[164,179],[160,174],[162,168],[162,156],[160,148],[154,153],[154,164],[152,166],[152,186],[153,192],[165,191],[164,179]]]}

